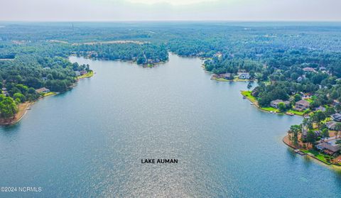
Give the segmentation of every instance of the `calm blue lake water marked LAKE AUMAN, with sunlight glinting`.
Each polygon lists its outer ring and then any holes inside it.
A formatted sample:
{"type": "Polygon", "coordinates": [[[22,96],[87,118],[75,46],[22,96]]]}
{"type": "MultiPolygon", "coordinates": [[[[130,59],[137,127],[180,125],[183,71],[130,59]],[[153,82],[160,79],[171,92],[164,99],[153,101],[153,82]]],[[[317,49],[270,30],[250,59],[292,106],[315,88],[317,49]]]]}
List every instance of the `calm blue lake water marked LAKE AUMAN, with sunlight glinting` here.
{"type": "Polygon", "coordinates": [[[282,143],[298,116],[259,111],[202,60],[87,60],[96,75],[0,128],[0,197],[338,197],[341,175],[282,143]],[[177,158],[178,164],[141,164],[177,158]]]}

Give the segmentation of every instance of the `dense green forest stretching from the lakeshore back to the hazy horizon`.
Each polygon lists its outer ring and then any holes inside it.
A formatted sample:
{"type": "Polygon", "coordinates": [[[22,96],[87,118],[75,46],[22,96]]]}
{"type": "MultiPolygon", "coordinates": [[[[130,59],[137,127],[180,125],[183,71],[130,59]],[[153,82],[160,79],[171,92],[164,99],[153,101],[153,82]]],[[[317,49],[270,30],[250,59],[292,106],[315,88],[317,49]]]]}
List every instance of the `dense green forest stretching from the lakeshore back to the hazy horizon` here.
{"type": "Polygon", "coordinates": [[[165,62],[168,52],[202,57],[214,74],[249,72],[260,106],[300,92],[328,105],[341,99],[340,46],[340,23],[3,23],[0,116],[37,99],[35,89],[65,92],[76,71],[90,70],[70,55],[139,65],[165,62]]]}

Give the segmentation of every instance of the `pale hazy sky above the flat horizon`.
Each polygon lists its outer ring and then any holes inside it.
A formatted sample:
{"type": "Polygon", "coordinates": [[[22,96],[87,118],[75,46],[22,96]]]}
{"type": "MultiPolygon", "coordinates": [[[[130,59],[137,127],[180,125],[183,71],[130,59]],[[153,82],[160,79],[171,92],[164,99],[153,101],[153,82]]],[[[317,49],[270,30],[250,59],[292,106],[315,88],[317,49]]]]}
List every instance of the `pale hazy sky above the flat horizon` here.
{"type": "Polygon", "coordinates": [[[0,21],[341,21],[341,0],[5,0],[0,21]]]}

